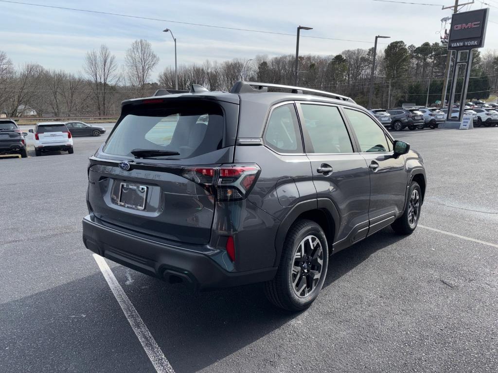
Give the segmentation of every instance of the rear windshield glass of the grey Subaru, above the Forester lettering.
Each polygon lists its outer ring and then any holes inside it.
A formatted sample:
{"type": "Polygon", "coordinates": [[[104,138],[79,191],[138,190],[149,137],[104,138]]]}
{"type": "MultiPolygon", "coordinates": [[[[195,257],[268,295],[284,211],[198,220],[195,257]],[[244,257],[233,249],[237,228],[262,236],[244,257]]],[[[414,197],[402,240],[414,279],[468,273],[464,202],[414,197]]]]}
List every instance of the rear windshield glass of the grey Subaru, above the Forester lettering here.
{"type": "Polygon", "coordinates": [[[151,109],[146,106],[123,118],[104,152],[132,157],[134,149],[160,150],[179,153],[164,158],[185,159],[223,147],[224,117],[218,104],[195,101],[151,109]]]}

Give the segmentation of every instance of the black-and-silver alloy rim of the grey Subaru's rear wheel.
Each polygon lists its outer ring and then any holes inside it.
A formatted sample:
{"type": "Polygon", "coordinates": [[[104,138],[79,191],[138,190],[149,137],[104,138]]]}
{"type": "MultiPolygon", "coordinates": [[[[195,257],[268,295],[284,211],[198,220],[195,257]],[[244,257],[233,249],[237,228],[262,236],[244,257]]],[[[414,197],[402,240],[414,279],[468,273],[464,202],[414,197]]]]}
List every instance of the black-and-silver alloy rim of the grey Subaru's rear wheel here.
{"type": "Polygon", "coordinates": [[[293,256],[290,280],[294,293],[300,298],[310,295],[316,289],[322,272],[322,244],[316,236],[306,236],[293,256]]]}

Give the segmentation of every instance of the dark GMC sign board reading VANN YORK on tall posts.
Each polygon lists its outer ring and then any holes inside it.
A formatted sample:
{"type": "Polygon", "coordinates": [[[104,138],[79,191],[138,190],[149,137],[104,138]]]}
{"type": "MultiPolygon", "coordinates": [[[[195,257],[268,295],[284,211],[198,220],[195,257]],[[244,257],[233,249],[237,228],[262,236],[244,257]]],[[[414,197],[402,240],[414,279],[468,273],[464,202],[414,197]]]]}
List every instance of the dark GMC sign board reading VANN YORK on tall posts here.
{"type": "Polygon", "coordinates": [[[454,13],[451,19],[449,50],[470,50],[484,47],[488,26],[488,8],[454,13]]]}

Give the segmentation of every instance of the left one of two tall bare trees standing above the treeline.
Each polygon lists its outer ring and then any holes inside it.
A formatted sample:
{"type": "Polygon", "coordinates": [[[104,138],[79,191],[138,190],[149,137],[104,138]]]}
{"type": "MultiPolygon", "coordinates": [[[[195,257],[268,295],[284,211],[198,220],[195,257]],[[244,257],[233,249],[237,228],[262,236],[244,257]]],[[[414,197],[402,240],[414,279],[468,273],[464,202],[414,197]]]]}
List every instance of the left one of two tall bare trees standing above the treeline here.
{"type": "Polygon", "coordinates": [[[99,50],[94,49],[87,53],[83,69],[90,79],[99,115],[106,115],[109,86],[116,84],[119,79],[116,57],[102,44],[99,50]]]}

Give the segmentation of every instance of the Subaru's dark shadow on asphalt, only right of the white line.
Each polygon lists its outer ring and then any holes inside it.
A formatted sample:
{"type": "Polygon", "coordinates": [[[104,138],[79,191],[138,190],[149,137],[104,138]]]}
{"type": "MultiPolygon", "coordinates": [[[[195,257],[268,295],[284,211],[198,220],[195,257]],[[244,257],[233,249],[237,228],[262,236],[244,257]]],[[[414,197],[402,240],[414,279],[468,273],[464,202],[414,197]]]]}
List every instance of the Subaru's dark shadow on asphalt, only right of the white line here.
{"type": "MultiPolygon", "coordinates": [[[[333,285],[377,250],[400,239],[387,228],[331,257],[324,286],[333,285]]],[[[250,349],[251,343],[300,315],[269,303],[261,284],[193,292],[141,274],[133,274],[136,280],[130,283],[130,270],[113,271],[177,373],[196,372],[250,349]]],[[[317,302],[327,301],[322,295],[317,302]]],[[[312,306],[307,312],[319,309],[312,306]]]]}

